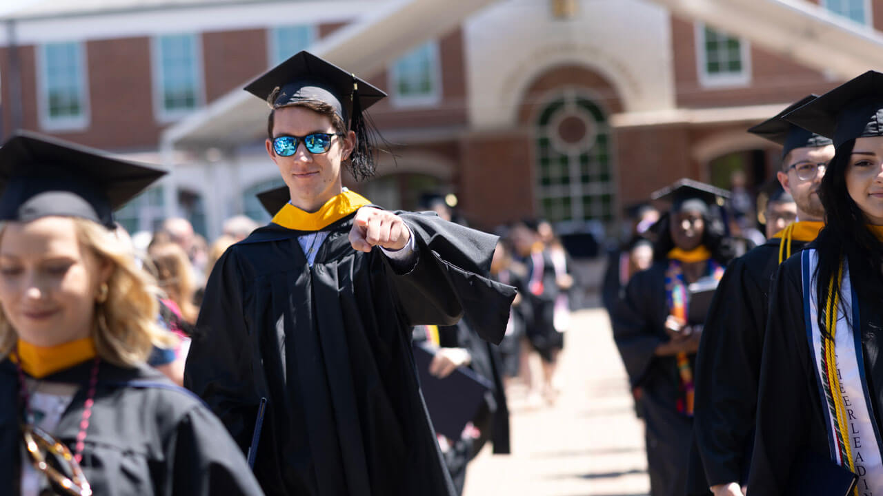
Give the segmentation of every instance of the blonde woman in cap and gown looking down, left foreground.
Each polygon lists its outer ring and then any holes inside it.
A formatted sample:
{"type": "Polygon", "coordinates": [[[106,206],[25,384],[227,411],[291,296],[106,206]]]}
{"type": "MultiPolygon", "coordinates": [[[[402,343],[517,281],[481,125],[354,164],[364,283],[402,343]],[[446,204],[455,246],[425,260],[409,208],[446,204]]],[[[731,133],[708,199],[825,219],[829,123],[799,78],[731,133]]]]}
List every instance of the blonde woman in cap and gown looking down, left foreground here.
{"type": "Polygon", "coordinates": [[[0,494],[261,494],[221,422],[146,364],[170,334],[111,209],[162,174],[32,134],[0,148],[0,494]]]}

